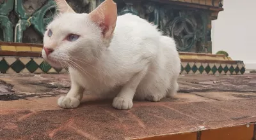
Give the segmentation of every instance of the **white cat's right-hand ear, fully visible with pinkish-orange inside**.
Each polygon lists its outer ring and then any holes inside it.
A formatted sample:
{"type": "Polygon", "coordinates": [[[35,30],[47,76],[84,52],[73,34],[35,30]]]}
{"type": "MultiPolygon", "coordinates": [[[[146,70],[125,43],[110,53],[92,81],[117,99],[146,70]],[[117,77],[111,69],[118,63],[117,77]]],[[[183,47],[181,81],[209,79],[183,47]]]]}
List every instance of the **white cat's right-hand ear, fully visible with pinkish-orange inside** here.
{"type": "Polygon", "coordinates": [[[111,38],[116,27],[117,18],[116,3],[113,0],[106,0],[101,3],[95,10],[89,13],[89,17],[102,29],[104,38],[111,38]]]}

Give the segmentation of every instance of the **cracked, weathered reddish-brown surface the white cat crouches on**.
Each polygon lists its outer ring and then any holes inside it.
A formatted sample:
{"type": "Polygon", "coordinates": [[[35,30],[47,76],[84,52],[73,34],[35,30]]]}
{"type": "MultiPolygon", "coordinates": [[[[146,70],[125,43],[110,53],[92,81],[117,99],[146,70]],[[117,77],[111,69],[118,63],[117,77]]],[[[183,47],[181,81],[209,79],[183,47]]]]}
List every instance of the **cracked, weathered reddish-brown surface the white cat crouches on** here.
{"type": "Polygon", "coordinates": [[[256,122],[256,74],[180,75],[179,83],[175,98],[134,101],[129,111],[93,95],[61,109],[68,74],[1,74],[0,139],[129,139],[256,122]]]}

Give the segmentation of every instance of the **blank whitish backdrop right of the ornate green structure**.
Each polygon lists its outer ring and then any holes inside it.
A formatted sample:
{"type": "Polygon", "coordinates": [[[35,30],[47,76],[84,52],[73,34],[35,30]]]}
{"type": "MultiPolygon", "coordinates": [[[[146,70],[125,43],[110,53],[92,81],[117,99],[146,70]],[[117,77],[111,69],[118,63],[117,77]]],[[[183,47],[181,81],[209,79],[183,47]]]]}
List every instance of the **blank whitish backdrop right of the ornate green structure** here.
{"type": "Polygon", "coordinates": [[[256,0],[224,0],[223,8],[212,22],[212,53],[225,50],[256,69],[256,0]]]}

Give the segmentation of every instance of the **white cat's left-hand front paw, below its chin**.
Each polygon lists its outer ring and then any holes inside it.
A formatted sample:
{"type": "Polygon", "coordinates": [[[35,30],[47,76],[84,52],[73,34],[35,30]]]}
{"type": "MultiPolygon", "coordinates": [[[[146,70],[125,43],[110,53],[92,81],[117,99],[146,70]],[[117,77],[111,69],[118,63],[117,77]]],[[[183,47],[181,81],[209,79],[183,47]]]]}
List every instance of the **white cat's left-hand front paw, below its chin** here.
{"type": "Polygon", "coordinates": [[[80,101],[74,97],[61,96],[58,99],[58,105],[61,108],[76,108],[79,104],[80,101]]]}

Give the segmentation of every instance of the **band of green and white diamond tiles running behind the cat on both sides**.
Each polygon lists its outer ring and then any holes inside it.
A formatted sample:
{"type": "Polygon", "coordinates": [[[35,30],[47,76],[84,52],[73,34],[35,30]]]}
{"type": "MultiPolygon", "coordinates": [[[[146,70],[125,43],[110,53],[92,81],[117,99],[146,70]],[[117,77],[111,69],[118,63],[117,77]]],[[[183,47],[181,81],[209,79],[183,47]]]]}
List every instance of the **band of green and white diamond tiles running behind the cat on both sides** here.
{"type": "MultiPolygon", "coordinates": [[[[181,62],[180,74],[244,74],[245,66],[238,64],[217,64],[181,62]]],[[[67,73],[67,69],[55,69],[38,57],[0,57],[0,73],[67,73]]]]}

